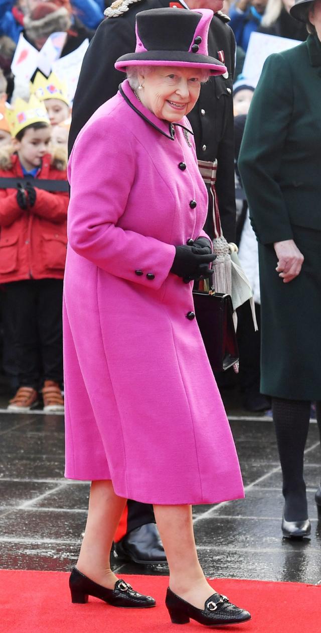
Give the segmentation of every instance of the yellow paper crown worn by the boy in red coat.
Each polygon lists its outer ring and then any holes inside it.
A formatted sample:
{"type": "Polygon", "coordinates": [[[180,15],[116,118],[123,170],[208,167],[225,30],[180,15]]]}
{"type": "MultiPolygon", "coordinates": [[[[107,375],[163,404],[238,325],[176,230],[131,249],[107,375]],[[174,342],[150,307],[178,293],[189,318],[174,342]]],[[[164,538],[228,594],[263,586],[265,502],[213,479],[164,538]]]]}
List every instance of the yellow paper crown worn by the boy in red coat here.
{"type": "Polygon", "coordinates": [[[16,136],[23,128],[32,123],[47,123],[50,125],[49,116],[43,103],[38,101],[37,97],[32,94],[29,101],[24,99],[16,99],[12,108],[7,111],[7,118],[11,134],[16,136]]]}

